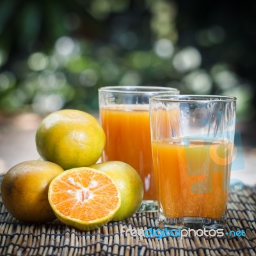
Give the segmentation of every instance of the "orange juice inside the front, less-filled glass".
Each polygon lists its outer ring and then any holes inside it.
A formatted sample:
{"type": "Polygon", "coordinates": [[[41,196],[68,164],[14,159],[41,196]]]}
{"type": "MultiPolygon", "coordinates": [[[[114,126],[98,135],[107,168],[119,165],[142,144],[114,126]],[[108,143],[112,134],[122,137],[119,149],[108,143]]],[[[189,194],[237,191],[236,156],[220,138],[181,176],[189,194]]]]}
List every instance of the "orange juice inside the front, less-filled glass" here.
{"type": "Polygon", "coordinates": [[[225,214],[232,147],[227,141],[188,138],[152,141],[164,216],[216,219],[225,214]]]}

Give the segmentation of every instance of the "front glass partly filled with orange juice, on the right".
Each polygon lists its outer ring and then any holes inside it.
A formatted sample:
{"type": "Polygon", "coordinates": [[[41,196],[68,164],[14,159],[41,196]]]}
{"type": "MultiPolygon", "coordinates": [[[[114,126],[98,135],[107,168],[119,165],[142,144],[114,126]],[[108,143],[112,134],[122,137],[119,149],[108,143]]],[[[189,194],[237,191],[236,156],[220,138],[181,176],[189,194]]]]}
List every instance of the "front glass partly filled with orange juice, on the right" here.
{"type": "Polygon", "coordinates": [[[160,227],[225,227],[235,120],[234,97],[150,99],[160,227]]]}

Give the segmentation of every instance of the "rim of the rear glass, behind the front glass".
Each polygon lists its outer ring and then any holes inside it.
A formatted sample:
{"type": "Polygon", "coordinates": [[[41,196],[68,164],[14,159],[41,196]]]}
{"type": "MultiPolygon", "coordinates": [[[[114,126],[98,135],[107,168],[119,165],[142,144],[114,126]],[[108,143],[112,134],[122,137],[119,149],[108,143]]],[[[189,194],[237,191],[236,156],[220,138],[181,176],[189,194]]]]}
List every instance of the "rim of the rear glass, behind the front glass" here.
{"type": "Polygon", "coordinates": [[[118,85],[118,86],[104,86],[98,89],[99,92],[113,92],[113,93],[134,93],[134,94],[150,94],[150,93],[168,93],[168,92],[177,92],[180,91],[172,87],[164,86],[139,86],[139,85],[118,85]],[[122,90],[126,89],[126,90],[122,90]],[[142,89],[136,91],[136,89],[142,89]]]}

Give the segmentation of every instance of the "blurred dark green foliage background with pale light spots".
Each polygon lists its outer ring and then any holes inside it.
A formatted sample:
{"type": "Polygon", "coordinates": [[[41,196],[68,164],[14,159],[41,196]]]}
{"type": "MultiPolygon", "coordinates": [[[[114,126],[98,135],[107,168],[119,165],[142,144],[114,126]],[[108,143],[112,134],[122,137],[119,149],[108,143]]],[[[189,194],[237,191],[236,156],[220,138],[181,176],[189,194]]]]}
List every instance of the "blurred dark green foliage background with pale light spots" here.
{"type": "Polygon", "coordinates": [[[98,88],[237,97],[255,118],[255,2],[1,0],[0,113],[97,111],[98,88]]]}

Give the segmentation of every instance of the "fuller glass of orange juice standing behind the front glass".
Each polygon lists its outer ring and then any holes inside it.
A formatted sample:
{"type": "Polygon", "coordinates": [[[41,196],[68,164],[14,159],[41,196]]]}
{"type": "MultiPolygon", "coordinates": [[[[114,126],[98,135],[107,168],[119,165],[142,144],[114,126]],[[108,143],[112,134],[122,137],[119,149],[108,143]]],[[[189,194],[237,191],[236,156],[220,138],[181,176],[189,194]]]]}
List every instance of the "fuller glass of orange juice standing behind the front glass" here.
{"type": "Polygon", "coordinates": [[[148,100],[179,90],[159,86],[108,86],[99,89],[100,122],[106,133],[102,161],[123,161],[139,174],[144,186],[139,211],[156,211],[148,100]]]}

